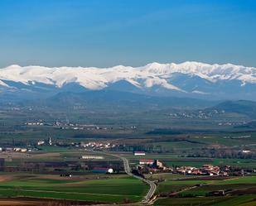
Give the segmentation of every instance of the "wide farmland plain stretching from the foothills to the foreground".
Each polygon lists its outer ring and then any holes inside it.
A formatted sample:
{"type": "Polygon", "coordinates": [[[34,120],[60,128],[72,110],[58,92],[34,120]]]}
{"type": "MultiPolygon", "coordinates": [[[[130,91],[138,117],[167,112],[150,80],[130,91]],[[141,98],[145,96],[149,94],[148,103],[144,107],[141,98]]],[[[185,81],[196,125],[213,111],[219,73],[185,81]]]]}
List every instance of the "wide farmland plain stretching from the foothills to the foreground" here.
{"type": "Polygon", "coordinates": [[[142,176],[156,182],[155,205],[254,203],[256,131],[239,127],[249,121],[248,117],[225,113],[191,122],[186,115],[167,115],[177,111],[121,110],[116,111],[120,120],[117,122],[114,108],[107,112],[41,107],[24,107],[14,112],[2,108],[0,205],[1,200],[17,199],[31,205],[41,199],[77,201],[75,204],[140,202],[147,194],[147,184],[125,175],[123,161],[108,153],[128,159],[133,170],[142,167],[142,176]],[[63,121],[66,116],[67,122],[63,121]],[[38,145],[40,141],[44,143],[38,145]],[[134,156],[133,151],[145,151],[146,155],[134,156]],[[168,170],[138,165],[140,159],[159,160],[168,170]],[[203,165],[218,166],[220,170],[228,166],[232,172],[212,177],[174,172],[182,166],[203,165]],[[111,168],[114,174],[95,173],[94,168],[111,168]],[[220,190],[225,194],[211,194],[220,190]]]}

